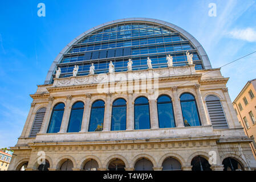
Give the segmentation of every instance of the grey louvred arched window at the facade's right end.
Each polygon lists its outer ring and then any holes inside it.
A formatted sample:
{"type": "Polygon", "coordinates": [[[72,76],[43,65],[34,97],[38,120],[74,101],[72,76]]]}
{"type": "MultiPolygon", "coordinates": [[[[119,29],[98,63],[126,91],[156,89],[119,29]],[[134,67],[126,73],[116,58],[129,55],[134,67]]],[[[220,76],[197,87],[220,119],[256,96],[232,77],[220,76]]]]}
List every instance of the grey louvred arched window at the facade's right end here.
{"type": "Polygon", "coordinates": [[[227,129],[227,121],[222,109],[220,98],[214,95],[207,96],[206,105],[213,129],[227,129]]]}

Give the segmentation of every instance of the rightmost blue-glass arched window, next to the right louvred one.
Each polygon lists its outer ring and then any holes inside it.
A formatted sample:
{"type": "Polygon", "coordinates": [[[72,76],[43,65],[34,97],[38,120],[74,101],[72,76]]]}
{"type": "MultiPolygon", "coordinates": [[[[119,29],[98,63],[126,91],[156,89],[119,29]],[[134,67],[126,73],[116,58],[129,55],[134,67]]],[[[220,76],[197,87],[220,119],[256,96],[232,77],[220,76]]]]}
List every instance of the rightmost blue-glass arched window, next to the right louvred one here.
{"type": "Polygon", "coordinates": [[[184,126],[200,126],[201,121],[194,96],[190,93],[183,93],[180,96],[180,104],[184,126]]]}

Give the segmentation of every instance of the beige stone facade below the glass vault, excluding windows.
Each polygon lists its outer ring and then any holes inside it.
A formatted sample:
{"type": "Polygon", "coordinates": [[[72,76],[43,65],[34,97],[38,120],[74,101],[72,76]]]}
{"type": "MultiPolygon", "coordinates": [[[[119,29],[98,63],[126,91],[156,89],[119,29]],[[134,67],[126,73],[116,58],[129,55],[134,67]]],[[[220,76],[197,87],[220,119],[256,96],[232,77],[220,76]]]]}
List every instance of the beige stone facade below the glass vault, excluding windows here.
{"type": "Polygon", "coordinates": [[[150,160],[154,170],[161,170],[162,163],[170,156],[180,162],[182,170],[191,170],[192,159],[200,155],[208,160],[210,151],[217,154],[216,164],[211,166],[212,170],[222,170],[222,161],[227,157],[238,160],[245,170],[255,169],[256,162],[249,146],[251,139],[243,133],[235,115],[226,88],[227,80],[228,78],[221,75],[220,69],[196,71],[194,65],[120,72],[113,75],[55,78],[53,84],[39,85],[36,93],[31,95],[33,102],[21,137],[16,146],[11,147],[15,155],[9,170],[18,170],[26,162],[29,162],[26,170],[36,170],[39,151],[46,153],[46,159],[50,163],[49,170],[60,169],[66,159],[70,159],[74,164],[73,170],[83,170],[89,159],[96,160],[98,170],[107,170],[109,162],[115,158],[123,160],[127,170],[135,169],[135,163],[141,158],[150,160]],[[157,80],[150,77],[153,73],[159,74],[157,80]],[[109,82],[109,77],[119,77],[120,74],[127,77],[128,81],[117,79],[109,82]],[[133,76],[129,77],[129,74],[133,76]],[[147,78],[141,78],[140,74],[146,75],[147,78]],[[145,80],[157,82],[157,90],[137,89],[134,86],[138,81],[140,85],[143,84],[145,80]],[[127,85],[128,89],[123,93],[111,92],[111,89],[99,93],[97,88],[100,84],[105,84],[105,88],[123,84],[127,85]],[[149,99],[151,129],[134,129],[134,101],[139,96],[149,98],[152,93],[157,96],[166,94],[172,98],[176,127],[159,129],[156,97],[149,99]],[[192,93],[195,96],[201,126],[184,126],[179,101],[182,93],[192,93]],[[228,129],[213,129],[205,101],[209,94],[220,98],[228,129]],[[110,131],[111,108],[116,98],[124,98],[127,101],[125,131],[110,131]],[[88,132],[91,105],[99,99],[105,102],[103,131],[88,132]],[[79,133],[66,133],[71,107],[76,101],[84,102],[82,128],[79,133]],[[60,132],[46,133],[52,109],[58,102],[65,104],[60,132]],[[36,111],[42,107],[46,107],[46,114],[40,133],[36,138],[29,138],[36,111]]]}

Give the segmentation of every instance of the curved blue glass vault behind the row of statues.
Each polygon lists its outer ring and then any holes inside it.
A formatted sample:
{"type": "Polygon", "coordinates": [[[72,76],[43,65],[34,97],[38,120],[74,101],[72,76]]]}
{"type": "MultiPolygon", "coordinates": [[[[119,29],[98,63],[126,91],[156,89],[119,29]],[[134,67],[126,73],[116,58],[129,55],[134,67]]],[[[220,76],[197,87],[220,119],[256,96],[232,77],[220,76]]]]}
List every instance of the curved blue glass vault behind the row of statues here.
{"type": "Polygon", "coordinates": [[[95,74],[107,73],[112,61],[115,72],[123,72],[127,71],[128,59],[133,61],[133,70],[147,69],[150,57],[153,68],[166,68],[167,55],[173,56],[174,67],[182,66],[187,63],[186,51],[193,53],[196,69],[205,69],[202,53],[196,46],[180,31],[164,24],[141,20],[110,23],[75,39],[60,59],[54,61],[51,79],[45,83],[53,81],[57,67],[61,69],[60,77],[70,77],[74,66],[79,65],[78,76],[82,76],[89,74],[91,63],[95,65],[95,74]]]}

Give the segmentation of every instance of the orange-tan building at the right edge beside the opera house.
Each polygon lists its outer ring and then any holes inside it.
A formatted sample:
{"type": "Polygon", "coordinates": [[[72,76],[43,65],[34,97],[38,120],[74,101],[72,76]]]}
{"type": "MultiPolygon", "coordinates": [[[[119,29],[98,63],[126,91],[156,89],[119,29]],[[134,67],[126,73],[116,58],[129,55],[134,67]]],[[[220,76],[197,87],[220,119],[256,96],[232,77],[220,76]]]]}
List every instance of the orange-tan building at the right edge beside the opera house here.
{"type": "Polygon", "coordinates": [[[247,137],[253,139],[250,143],[256,159],[256,79],[250,80],[243,87],[233,102],[235,113],[247,137]]]}

